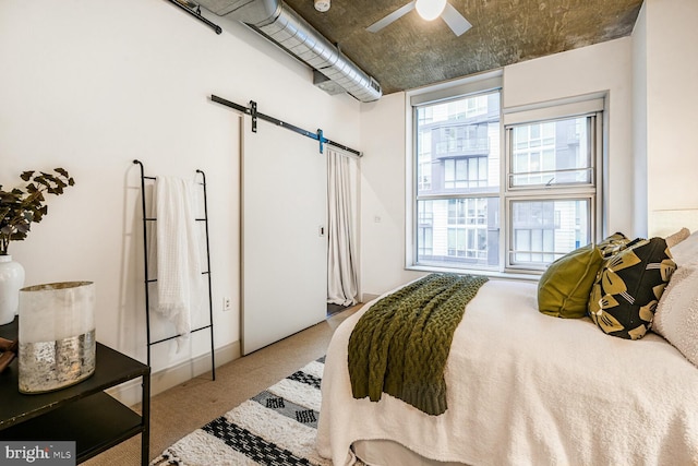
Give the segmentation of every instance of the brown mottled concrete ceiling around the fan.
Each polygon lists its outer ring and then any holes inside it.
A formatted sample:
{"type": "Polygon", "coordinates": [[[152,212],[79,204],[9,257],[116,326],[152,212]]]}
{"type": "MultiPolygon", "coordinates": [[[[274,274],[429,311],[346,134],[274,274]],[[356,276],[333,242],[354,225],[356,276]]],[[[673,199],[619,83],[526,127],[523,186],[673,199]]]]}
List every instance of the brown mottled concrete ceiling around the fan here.
{"type": "Polygon", "coordinates": [[[472,28],[456,37],[416,11],[378,33],[368,26],[409,0],[285,0],[361,69],[384,94],[628,36],[642,0],[448,0],[472,28]]]}

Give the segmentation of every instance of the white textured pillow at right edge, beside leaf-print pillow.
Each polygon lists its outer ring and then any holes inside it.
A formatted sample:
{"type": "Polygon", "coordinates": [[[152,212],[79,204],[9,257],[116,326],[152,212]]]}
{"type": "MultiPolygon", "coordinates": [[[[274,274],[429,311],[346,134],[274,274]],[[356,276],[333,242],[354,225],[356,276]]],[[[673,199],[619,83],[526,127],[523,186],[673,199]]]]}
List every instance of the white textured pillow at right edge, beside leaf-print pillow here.
{"type": "Polygon", "coordinates": [[[657,306],[652,330],[698,367],[698,266],[676,268],[657,306]]]}

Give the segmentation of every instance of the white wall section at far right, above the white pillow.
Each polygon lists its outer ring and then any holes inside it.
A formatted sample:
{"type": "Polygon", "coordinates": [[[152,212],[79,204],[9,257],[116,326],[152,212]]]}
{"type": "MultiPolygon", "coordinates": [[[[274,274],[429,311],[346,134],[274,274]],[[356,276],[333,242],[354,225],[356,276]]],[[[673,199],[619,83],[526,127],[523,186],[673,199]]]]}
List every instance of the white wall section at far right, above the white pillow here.
{"type": "Polygon", "coordinates": [[[643,9],[649,211],[698,208],[698,2],[646,0],[643,9]]]}

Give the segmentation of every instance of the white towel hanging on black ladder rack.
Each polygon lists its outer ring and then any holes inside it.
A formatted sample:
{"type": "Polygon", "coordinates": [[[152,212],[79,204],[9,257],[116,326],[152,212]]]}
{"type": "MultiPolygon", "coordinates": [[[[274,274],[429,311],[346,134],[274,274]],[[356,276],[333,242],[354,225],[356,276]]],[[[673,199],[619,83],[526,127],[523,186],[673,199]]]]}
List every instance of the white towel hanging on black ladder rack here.
{"type": "MultiPolygon", "coordinates": [[[[189,336],[192,313],[202,302],[200,235],[194,208],[195,183],[176,177],[155,182],[157,238],[156,310],[189,336]]],[[[181,343],[181,342],[180,342],[181,343]]]]}

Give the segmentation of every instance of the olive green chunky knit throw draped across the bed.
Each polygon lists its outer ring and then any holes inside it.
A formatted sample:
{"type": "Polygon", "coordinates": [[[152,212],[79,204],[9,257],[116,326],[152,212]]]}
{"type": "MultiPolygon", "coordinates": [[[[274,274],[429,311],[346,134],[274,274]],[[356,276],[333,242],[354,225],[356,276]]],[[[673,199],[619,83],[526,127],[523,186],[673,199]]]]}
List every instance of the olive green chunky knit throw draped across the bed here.
{"type": "Polygon", "coordinates": [[[431,274],[374,303],[349,337],[353,397],[395,396],[422,411],[446,411],[444,369],[466,304],[486,277],[431,274]]]}

